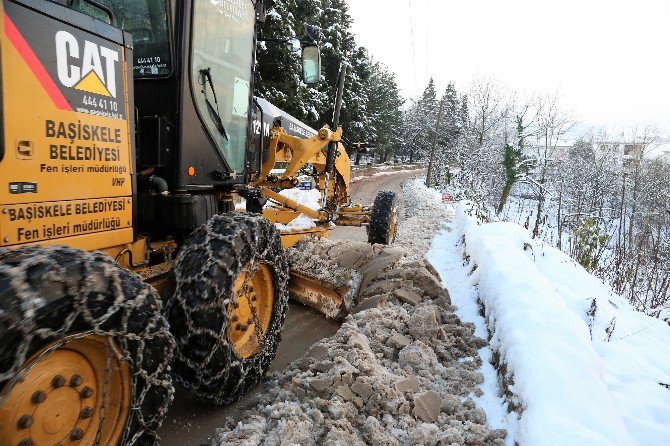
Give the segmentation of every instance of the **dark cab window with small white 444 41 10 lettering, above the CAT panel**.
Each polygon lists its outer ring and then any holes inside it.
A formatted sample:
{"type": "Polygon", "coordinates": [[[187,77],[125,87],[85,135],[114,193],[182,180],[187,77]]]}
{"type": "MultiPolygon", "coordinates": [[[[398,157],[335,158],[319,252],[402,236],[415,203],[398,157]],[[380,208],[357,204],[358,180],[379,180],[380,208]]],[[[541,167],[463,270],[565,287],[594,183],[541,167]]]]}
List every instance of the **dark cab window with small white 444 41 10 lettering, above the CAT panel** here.
{"type": "MultiPolygon", "coordinates": [[[[166,76],[172,71],[165,0],[96,0],[114,12],[117,26],[133,35],[135,77],[166,76]]],[[[216,1],[216,0],[215,0],[216,1]]],[[[84,0],[70,7],[109,23],[109,16],[84,0]]]]}

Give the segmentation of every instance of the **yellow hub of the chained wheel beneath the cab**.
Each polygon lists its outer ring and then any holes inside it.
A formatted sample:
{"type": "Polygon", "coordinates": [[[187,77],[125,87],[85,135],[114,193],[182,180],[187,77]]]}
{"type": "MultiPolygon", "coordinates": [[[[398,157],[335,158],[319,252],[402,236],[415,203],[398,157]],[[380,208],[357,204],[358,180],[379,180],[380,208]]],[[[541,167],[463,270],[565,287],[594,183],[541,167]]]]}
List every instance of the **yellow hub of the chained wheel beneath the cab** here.
{"type": "Polygon", "coordinates": [[[272,274],[263,264],[252,264],[235,280],[235,301],[228,308],[231,323],[228,335],[233,351],[246,359],[257,353],[272,320],[274,290],[272,274]]]}

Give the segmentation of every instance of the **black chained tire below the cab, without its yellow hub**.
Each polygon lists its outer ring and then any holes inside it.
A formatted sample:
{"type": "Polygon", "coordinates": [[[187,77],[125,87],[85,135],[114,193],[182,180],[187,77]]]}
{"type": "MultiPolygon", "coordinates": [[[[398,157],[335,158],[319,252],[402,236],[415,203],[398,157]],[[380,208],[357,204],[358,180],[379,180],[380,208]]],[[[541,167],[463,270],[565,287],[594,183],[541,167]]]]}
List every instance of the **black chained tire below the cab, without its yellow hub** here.
{"type": "Polygon", "coordinates": [[[177,341],[175,379],[197,399],[215,405],[239,400],[274,359],[288,306],[288,263],[275,226],[258,215],[217,215],[196,229],[176,259],[176,290],[168,320],[177,341]],[[228,335],[227,311],[236,278],[252,262],[266,265],[273,314],[260,349],[239,358],[228,335]]]}

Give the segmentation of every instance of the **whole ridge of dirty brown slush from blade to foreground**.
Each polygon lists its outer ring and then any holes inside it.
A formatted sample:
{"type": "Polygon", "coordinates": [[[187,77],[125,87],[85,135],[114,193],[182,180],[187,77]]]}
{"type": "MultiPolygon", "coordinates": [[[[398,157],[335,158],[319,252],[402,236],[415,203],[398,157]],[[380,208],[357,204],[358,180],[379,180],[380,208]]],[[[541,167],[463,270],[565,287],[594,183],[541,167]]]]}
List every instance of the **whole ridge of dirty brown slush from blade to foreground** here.
{"type": "MultiPolygon", "coordinates": [[[[408,219],[393,248],[341,244],[326,251],[360,275],[354,314],[314,345],[212,445],[502,445],[474,399],[485,342],[463,323],[434,268],[431,240],[453,215],[432,192],[403,187],[408,219]],[[339,253],[339,257],[337,255],[339,253]]],[[[358,279],[357,279],[358,280],[358,279]]]]}

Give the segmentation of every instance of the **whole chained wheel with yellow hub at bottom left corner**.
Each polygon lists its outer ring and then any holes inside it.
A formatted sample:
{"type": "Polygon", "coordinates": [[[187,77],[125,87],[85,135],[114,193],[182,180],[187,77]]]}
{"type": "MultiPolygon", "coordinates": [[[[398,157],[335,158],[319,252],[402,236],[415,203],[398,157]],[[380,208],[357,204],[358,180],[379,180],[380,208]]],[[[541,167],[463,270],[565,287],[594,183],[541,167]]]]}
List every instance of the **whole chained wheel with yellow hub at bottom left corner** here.
{"type": "Polygon", "coordinates": [[[103,254],[28,247],[0,251],[0,296],[2,444],[157,444],[174,342],[155,290],[103,254]]]}

